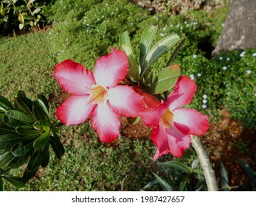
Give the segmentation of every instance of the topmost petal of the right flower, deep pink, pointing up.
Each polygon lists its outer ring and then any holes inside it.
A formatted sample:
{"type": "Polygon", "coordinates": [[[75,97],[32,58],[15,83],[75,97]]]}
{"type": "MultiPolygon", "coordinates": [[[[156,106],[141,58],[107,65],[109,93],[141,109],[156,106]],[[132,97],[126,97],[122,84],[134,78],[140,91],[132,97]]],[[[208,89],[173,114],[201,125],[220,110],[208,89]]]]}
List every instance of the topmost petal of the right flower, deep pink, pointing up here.
{"type": "Polygon", "coordinates": [[[190,104],[193,96],[196,93],[196,83],[189,77],[179,77],[175,85],[174,91],[170,93],[167,98],[166,104],[170,110],[175,110],[185,104],[190,104]]]}

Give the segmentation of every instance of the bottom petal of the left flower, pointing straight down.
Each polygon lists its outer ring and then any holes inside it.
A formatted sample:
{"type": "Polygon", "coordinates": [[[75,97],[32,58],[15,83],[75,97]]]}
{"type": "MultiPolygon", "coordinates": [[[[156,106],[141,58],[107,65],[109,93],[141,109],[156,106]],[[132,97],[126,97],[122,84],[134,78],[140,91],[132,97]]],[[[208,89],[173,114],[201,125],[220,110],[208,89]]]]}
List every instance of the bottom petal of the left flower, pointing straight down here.
{"type": "Polygon", "coordinates": [[[97,104],[91,115],[91,126],[96,130],[100,141],[109,143],[120,136],[120,118],[111,110],[108,102],[97,104]]]}

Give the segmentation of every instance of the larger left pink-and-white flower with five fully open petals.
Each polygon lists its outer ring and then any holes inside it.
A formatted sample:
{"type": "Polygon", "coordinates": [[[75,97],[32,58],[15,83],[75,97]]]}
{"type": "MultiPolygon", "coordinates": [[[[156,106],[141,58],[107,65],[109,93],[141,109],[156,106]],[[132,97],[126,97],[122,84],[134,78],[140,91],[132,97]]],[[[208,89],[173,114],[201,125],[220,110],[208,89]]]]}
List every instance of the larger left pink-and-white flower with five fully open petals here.
{"type": "Polygon", "coordinates": [[[114,49],[97,60],[93,74],[72,60],[56,65],[52,76],[63,90],[72,94],[57,108],[58,119],[69,126],[91,116],[91,125],[100,141],[114,141],[120,136],[119,116],[136,117],[143,108],[142,96],[127,85],[119,85],[127,71],[125,52],[114,49]]]}

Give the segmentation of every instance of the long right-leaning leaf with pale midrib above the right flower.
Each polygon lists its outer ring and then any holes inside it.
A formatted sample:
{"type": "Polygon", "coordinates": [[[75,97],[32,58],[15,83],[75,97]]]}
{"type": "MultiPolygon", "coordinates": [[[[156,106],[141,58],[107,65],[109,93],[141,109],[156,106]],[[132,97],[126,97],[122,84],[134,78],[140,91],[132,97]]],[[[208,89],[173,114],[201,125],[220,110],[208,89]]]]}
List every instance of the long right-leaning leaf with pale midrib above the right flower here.
{"type": "Polygon", "coordinates": [[[176,45],[176,43],[179,43],[179,36],[178,35],[169,35],[165,38],[162,38],[162,40],[159,40],[150,51],[148,51],[148,54],[145,58],[145,63],[142,67],[142,74],[141,77],[143,77],[148,69],[151,67],[151,65],[168,49],[170,49],[172,46],[176,45]]]}

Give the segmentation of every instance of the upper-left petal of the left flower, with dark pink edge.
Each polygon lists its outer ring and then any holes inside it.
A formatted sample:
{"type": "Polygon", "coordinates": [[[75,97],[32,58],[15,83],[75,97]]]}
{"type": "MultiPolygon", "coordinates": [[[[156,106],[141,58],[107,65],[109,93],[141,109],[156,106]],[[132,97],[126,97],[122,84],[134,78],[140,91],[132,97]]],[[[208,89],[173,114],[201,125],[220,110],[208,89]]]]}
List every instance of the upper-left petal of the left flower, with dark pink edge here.
{"type": "Polygon", "coordinates": [[[63,90],[75,95],[88,94],[91,85],[95,85],[94,77],[87,68],[72,60],[65,60],[55,65],[55,77],[63,90]]]}

